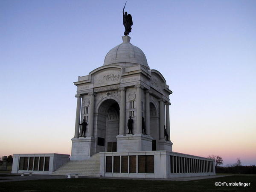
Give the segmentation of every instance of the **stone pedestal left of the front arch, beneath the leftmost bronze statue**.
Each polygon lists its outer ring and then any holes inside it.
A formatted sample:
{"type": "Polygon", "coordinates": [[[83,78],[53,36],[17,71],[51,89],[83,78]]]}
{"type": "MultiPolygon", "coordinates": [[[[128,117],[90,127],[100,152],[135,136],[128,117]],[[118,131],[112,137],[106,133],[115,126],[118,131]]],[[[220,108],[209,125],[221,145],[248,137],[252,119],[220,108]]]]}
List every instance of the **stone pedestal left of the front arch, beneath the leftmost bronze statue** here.
{"type": "Polygon", "coordinates": [[[94,137],[73,138],[70,160],[86,160],[93,155],[94,137]]]}

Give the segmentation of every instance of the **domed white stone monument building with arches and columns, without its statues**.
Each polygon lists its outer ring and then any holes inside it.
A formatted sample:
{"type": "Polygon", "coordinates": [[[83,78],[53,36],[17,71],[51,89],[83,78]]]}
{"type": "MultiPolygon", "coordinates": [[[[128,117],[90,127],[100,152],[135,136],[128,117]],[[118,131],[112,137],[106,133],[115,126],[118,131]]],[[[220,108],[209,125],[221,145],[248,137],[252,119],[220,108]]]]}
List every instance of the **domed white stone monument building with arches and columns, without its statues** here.
{"type": "Polygon", "coordinates": [[[149,68],[143,51],[130,43],[131,38],[123,36],[122,40],[122,44],[108,52],[102,67],[88,76],[79,76],[74,83],[77,108],[71,160],[85,160],[99,152],[172,151],[172,91],[162,74],[149,68]],[[134,134],[128,134],[130,116],[134,134]],[[86,137],[79,134],[83,119],[88,124],[86,137]]]}

